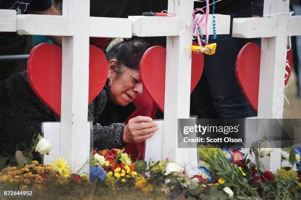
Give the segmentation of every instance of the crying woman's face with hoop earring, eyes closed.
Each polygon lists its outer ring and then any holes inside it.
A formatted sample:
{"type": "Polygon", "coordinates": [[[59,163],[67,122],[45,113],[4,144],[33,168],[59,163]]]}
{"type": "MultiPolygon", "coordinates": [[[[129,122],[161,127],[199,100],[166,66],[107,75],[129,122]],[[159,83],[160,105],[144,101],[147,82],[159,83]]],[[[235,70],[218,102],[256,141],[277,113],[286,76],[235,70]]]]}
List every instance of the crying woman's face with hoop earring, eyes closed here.
{"type": "Polygon", "coordinates": [[[143,85],[139,70],[121,67],[121,74],[117,74],[117,60],[110,60],[108,78],[111,78],[113,83],[110,86],[109,98],[113,103],[125,106],[142,94],[143,85]]]}

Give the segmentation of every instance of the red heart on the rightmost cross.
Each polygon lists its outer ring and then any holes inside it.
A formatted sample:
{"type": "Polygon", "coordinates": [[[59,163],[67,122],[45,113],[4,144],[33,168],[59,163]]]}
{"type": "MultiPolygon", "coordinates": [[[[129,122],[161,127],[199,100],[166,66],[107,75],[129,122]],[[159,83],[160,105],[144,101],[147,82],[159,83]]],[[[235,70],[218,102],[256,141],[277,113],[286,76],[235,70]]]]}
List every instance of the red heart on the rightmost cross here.
{"type": "MultiPolygon", "coordinates": [[[[236,77],[241,86],[241,90],[256,112],[258,110],[260,57],[260,47],[255,43],[247,43],[238,54],[235,67],[236,77]]],[[[286,66],[288,75],[285,75],[285,85],[287,84],[293,69],[293,56],[291,50],[287,52],[286,59],[289,61],[291,69],[286,66]]]]}

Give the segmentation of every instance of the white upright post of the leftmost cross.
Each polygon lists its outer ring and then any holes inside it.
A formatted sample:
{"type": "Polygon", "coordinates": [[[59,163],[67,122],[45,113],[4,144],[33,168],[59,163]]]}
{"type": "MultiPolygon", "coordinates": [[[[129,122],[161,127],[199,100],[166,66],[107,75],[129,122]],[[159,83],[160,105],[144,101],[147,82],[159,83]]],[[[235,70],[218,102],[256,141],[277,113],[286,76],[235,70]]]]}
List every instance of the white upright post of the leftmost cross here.
{"type": "MultiPolygon", "coordinates": [[[[86,135],[90,1],[64,0],[63,16],[73,16],[74,34],[62,40],[60,156],[69,161],[76,173],[89,163],[90,156],[86,135]]],[[[89,167],[86,169],[89,172],[89,167]]]]}

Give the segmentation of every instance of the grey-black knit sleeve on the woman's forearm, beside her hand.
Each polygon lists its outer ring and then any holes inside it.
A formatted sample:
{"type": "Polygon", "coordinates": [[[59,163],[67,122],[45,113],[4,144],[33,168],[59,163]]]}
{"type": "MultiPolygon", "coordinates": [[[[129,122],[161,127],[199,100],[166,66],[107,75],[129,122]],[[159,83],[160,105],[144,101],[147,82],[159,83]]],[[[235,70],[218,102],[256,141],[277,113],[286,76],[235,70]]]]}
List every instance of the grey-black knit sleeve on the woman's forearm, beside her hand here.
{"type": "Polygon", "coordinates": [[[115,123],[109,126],[93,125],[93,148],[97,150],[120,149],[124,147],[124,124],[115,123]]]}

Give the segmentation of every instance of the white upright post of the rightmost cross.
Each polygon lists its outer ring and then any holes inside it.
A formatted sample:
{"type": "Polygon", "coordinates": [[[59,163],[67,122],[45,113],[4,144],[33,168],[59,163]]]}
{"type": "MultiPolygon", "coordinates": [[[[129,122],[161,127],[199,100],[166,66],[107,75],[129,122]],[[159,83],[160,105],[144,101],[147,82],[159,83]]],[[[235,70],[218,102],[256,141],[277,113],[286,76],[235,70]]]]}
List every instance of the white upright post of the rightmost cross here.
{"type": "MultiPolygon", "coordinates": [[[[265,0],[264,17],[276,15],[277,29],[276,36],[262,38],[260,79],[258,97],[258,119],[283,118],[284,102],[284,77],[285,77],[285,51],[287,49],[287,29],[289,28],[289,0],[265,0]]],[[[263,128],[264,132],[270,128],[262,127],[260,120],[258,128],[263,128]]],[[[265,126],[265,125],[264,125],[265,126]]],[[[257,132],[260,130],[258,129],[257,132]]],[[[281,145],[281,141],[277,142],[281,145]]],[[[280,168],[281,149],[275,148],[263,161],[270,166],[270,170],[275,172],[280,168]]]]}

